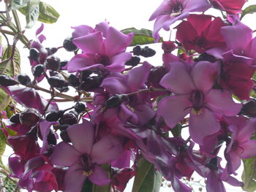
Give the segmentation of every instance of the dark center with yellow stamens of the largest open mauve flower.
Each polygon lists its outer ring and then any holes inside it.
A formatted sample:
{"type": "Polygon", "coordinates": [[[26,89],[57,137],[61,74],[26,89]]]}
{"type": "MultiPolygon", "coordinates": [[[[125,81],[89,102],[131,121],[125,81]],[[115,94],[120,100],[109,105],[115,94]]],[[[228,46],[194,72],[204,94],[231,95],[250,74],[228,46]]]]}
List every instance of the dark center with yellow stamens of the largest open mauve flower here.
{"type": "Polygon", "coordinates": [[[201,115],[204,100],[202,91],[193,91],[189,100],[192,101],[192,113],[194,115],[201,115]]]}

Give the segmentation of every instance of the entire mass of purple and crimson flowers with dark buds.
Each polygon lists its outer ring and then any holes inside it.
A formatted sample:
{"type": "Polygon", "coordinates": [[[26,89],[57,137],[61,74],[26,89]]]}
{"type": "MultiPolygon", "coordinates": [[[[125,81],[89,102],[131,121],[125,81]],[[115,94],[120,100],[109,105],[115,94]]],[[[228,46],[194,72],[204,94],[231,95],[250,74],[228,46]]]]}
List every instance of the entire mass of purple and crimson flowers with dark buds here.
{"type": "Polygon", "coordinates": [[[11,176],[20,188],[80,192],[89,182],[124,191],[142,156],[176,192],[192,191],[181,178],[194,172],[206,178],[208,192],[225,192],[223,182],[242,186],[233,175],[241,159],[256,155],[250,97],[256,39],[236,15],[244,3],[164,0],[150,18],[155,41],[161,41],[161,28],[168,31],[182,21],[175,27],[176,41],[162,42],[162,66],[140,62],[155,51],[137,45],[128,52],[135,34],[107,21],[74,27],[63,47],[51,49],[42,45],[41,26],[29,53],[34,80],[0,75],[1,87],[26,107],[3,120],[16,133],[6,132],[14,150],[11,176]],[[193,13],[210,7],[227,17],[193,13]],[[61,61],[55,55],[60,48],[75,56],[61,61]],[[175,50],[182,53],[174,55],[175,50]],[[43,79],[50,90],[39,87],[43,79]],[[75,96],[67,94],[69,88],[75,96]],[[72,101],[72,107],[59,109],[62,101],[72,101]]]}

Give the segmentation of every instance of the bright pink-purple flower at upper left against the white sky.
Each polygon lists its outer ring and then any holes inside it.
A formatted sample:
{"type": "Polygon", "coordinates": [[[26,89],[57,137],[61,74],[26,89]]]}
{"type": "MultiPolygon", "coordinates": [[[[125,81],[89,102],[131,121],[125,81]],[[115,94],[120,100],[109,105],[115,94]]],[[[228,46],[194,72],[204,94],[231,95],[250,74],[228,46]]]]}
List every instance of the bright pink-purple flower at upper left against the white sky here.
{"type": "Polygon", "coordinates": [[[83,53],[75,55],[67,64],[68,72],[78,72],[94,68],[110,72],[122,72],[131,53],[124,51],[132,42],[133,34],[123,34],[116,28],[99,27],[96,31],[72,40],[83,53]]]}

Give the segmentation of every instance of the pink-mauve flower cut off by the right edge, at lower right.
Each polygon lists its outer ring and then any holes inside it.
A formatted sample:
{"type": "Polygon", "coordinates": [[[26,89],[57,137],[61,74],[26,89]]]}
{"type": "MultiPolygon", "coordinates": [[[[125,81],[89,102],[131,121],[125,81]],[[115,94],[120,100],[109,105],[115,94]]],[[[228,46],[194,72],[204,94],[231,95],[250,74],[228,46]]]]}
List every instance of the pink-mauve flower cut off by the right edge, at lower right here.
{"type": "Polygon", "coordinates": [[[252,158],[256,155],[256,140],[250,140],[256,130],[256,119],[247,120],[244,116],[225,118],[232,131],[231,139],[227,142],[225,158],[228,174],[236,174],[241,165],[241,158],[252,158]]]}

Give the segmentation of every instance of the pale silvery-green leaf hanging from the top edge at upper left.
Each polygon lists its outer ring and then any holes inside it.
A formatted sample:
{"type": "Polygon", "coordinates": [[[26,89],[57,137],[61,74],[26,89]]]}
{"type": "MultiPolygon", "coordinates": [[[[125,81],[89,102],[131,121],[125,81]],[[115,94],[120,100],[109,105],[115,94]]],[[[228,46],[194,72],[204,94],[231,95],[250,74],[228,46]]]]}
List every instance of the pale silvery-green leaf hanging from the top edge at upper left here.
{"type": "Polygon", "coordinates": [[[26,28],[32,28],[39,17],[39,0],[30,0],[26,12],[26,28]]]}

